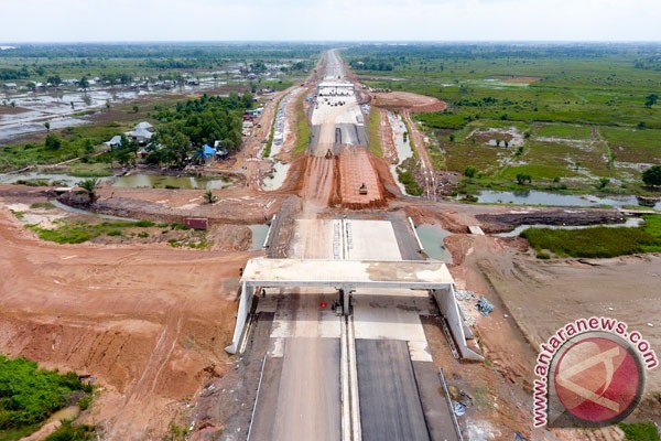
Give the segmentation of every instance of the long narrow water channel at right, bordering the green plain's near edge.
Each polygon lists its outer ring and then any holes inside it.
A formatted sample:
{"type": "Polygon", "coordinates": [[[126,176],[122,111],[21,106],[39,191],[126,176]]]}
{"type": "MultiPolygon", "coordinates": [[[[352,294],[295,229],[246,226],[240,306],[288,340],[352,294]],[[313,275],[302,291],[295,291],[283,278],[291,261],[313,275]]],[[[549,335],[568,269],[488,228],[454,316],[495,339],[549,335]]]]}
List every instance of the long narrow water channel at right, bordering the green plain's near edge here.
{"type": "Polygon", "coordinates": [[[483,191],[477,195],[480,204],[519,204],[519,205],[549,205],[549,206],[585,206],[598,207],[602,205],[622,207],[638,205],[643,209],[661,211],[661,201],[653,206],[643,206],[636,196],[597,197],[593,195],[555,194],[539,192],[494,192],[483,191]]]}

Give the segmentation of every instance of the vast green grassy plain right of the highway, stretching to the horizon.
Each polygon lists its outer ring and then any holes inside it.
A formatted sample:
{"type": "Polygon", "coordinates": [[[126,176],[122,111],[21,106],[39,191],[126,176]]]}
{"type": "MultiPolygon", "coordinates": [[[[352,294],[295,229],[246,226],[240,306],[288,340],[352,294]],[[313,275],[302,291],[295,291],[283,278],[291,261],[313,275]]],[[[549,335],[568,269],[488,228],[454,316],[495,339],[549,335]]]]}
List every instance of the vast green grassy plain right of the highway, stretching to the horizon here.
{"type": "MultiPolygon", "coordinates": [[[[344,52],[372,87],[437,97],[449,107],[415,118],[445,155],[438,168],[476,166],[502,185],[519,173],[534,181],[571,179],[568,190],[600,178],[639,183],[641,166],[661,162],[661,71],[640,68],[658,45],[360,45],[344,52]],[[388,66],[365,71],[362,65],[388,66]],[[379,63],[376,63],[379,62],[379,63]],[[498,149],[468,139],[475,129],[516,128],[523,148],[498,149]],[[449,141],[453,137],[454,141],[449,141]]],[[[642,192],[640,185],[629,185],[642,192]]]]}

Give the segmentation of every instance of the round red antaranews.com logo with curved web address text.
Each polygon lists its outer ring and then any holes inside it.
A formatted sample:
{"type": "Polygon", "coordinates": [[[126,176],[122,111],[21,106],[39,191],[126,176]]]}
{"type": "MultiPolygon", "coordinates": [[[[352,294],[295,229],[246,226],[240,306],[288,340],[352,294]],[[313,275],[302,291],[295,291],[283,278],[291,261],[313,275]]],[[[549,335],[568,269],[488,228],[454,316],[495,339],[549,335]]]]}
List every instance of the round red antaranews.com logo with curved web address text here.
{"type": "Polygon", "coordinates": [[[657,354],[617,319],[579,319],[541,345],[535,365],[534,427],[602,427],[636,409],[657,354]]]}

